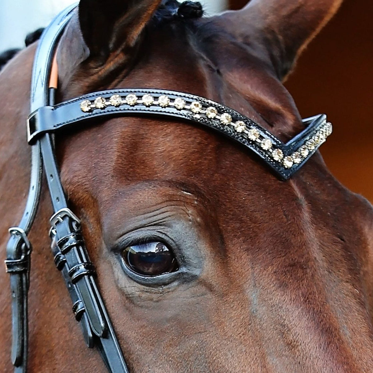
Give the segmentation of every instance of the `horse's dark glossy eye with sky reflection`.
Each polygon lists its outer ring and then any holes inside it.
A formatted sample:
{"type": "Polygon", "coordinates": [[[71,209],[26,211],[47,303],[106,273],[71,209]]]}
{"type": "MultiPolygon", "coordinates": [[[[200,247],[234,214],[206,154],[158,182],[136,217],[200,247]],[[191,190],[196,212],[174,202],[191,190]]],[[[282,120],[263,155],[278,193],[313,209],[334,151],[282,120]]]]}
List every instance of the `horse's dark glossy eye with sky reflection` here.
{"type": "Polygon", "coordinates": [[[126,247],[122,251],[125,265],[142,276],[159,276],[178,270],[178,262],[172,251],[162,242],[126,247]]]}

